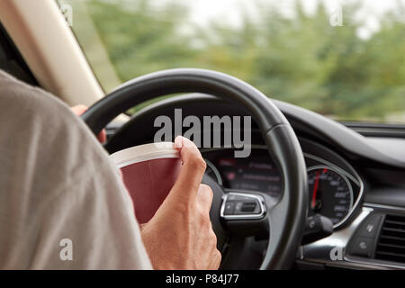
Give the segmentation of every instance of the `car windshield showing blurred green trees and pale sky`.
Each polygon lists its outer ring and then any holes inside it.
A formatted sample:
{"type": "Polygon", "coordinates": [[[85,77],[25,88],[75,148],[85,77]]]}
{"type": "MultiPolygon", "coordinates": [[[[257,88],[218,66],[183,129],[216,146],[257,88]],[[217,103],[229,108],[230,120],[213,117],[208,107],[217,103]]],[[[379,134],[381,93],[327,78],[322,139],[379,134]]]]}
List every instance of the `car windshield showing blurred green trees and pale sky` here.
{"type": "Polygon", "coordinates": [[[405,123],[404,0],[58,2],[106,93],[201,67],[339,121],[405,123]]]}

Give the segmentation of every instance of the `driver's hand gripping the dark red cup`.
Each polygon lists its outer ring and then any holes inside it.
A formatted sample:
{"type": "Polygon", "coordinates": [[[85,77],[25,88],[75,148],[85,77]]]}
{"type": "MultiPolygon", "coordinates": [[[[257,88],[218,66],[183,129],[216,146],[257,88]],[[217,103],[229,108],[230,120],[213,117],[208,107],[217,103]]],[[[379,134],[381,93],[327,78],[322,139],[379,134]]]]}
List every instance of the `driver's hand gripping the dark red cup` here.
{"type": "Polygon", "coordinates": [[[201,184],[205,161],[189,139],[177,137],[183,166],[175,185],[141,235],[155,269],[218,269],[220,251],[211,228],[212,191],[201,184]]]}

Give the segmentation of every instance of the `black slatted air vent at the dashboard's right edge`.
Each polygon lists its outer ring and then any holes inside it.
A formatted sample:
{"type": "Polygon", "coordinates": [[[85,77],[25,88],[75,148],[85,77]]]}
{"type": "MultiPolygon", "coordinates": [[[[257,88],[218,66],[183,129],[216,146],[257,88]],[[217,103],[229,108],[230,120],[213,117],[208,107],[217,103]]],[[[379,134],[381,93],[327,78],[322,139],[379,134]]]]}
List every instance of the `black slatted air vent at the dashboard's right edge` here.
{"type": "Polygon", "coordinates": [[[405,263],[405,216],[387,215],[383,222],[375,258],[405,263]]]}

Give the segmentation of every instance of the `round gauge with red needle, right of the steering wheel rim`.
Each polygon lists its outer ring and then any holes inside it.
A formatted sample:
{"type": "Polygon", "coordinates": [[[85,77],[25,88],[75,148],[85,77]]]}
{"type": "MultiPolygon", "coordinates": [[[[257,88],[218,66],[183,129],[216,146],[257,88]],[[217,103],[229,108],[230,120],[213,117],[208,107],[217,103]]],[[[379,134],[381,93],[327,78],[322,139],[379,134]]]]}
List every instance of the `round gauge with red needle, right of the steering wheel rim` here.
{"type": "Polygon", "coordinates": [[[308,169],[310,185],[309,215],[328,217],[335,226],[346,219],[353,207],[353,189],[346,175],[330,166],[308,169]]]}

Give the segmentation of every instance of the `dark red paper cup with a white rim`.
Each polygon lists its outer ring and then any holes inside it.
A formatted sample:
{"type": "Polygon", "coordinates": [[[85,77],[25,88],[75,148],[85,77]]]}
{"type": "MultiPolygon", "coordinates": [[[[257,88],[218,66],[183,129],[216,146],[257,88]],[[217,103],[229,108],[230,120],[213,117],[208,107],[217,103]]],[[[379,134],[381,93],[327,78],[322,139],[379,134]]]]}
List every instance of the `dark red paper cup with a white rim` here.
{"type": "Polygon", "coordinates": [[[110,157],[121,169],[139,223],[146,223],[165,200],[180,173],[175,144],[159,142],[126,148],[110,157]]]}

